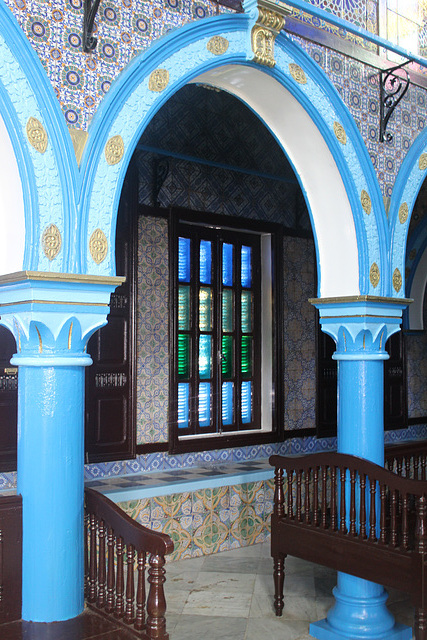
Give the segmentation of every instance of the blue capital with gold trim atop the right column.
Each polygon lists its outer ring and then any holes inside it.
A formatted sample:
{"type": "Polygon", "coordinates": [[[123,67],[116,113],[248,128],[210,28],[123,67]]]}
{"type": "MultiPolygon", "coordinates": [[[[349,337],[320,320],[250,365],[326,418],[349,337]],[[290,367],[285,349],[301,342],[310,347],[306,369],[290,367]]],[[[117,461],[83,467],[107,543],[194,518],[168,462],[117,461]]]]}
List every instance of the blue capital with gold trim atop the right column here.
{"type": "Polygon", "coordinates": [[[311,298],[322,331],[337,344],[336,360],[386,360],[385,343],[399,331],[406,298],[349,296],[311,298]]]}

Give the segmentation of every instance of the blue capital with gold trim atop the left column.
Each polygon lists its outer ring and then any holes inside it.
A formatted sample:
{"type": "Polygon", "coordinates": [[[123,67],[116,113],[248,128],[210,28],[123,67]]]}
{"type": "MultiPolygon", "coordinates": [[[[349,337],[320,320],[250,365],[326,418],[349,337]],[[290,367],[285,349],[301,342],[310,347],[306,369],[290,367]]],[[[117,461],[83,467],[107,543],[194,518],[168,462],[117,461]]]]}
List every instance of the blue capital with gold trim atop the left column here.
{"type": "Polygon", "coordinates": [[[0,276],[0,324],[13,333],[13,364],[84,366],[91,335],[107,322],[124,278],[21,271],[0,276]]]}

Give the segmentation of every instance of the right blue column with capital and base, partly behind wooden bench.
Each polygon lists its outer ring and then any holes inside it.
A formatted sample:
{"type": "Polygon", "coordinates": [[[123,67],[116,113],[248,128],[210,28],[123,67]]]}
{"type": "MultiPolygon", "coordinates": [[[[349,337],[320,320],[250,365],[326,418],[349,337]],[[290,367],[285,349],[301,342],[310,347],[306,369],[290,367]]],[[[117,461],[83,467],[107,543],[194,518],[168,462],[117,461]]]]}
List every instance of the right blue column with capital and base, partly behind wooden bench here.
{"type": "MultiPolygon", "coordinates": [[[[313,300],[338,361],[338,452],[384,465],[384,365],[387,339],[399,331],[408,301],[358,296],[313,300]]],[[[397,624],[381,585],[338,572],[335,605],[310,625],[319,640],[410,640],[397,624]]]]}

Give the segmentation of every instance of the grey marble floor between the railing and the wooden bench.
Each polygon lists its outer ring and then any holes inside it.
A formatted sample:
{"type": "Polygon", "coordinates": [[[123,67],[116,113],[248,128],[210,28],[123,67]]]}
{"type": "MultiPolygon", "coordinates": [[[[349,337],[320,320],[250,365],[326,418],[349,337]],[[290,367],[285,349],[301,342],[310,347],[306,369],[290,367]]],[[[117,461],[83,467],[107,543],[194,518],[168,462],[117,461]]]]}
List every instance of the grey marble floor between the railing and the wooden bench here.
{"type": "MultiPolygon", "coordinates": [[[[333,603],[334,571],[297,558],[286,560],[285,608],[273,611],[269,543],[167,565],[170,640],[309,640],[309,623],[333,603]]],[[[389,594],[396,620],[412,626],[407,596],[389,594]]]]}

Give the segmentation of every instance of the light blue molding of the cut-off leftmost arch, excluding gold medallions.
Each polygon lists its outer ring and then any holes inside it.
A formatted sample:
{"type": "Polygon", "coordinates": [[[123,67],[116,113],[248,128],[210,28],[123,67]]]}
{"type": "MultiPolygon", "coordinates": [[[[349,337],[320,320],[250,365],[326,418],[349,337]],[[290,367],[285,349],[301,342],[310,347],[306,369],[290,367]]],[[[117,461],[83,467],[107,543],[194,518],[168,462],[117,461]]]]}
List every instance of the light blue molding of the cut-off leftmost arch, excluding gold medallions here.
{"type": "MultiPolygon", "coordinates": [[[[43,66],[8,7],[0,3],[0,109],[11,138],[22,182],[25,209],[23,269],[73,270],[78,167],[58,100],[43,66]],[[28,142],[30,117],[43,125],[45,153],[28,142]],[[45,256],[41,235],[55,224],[62,246],[52,261],[45,256]]],[[[2,231],[4,232],[4,231],[2,231]]]]}

